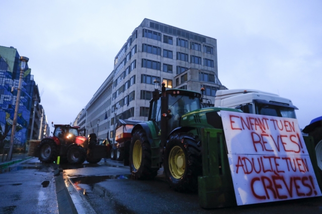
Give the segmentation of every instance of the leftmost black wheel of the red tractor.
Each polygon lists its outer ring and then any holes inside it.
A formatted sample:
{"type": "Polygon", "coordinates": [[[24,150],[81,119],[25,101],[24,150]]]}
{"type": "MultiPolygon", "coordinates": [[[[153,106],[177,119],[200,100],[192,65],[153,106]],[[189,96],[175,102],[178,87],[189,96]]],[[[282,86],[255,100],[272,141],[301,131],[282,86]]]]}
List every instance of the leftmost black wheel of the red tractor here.
{"type": "Polygon", "coordinates": [[[39,160],[43,163],[52,163],[57,161],[57,145],[51,139],[44,139],[41,141],[39,147],[39,160]]]}

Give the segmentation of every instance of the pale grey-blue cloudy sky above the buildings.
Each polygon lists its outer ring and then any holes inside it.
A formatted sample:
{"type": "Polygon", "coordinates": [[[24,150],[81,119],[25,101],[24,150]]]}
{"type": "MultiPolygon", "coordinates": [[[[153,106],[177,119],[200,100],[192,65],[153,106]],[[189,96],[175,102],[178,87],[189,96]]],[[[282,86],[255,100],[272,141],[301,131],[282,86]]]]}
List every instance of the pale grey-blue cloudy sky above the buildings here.
{"type": "Polygon", "coordinates": [[[144,18],[217,39],[229,89],[289,98],[300,128],[322,115],[321,1],[1,1],[0,45],[28,57],[48,123],[69,124],[144,18]]]}

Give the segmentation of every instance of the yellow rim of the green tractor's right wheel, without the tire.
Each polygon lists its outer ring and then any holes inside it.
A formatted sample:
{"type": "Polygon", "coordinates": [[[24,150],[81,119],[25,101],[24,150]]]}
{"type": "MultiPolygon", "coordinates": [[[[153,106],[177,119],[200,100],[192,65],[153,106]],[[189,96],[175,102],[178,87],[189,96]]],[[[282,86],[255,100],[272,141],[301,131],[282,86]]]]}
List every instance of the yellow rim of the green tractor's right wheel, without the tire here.
{"type": "Polygon", "coordinates": [[[176,179],[180,179],[186,170],[185,153],[179,146],[173,147],[170,151],[169,169],[172,176],[176,179]]]}

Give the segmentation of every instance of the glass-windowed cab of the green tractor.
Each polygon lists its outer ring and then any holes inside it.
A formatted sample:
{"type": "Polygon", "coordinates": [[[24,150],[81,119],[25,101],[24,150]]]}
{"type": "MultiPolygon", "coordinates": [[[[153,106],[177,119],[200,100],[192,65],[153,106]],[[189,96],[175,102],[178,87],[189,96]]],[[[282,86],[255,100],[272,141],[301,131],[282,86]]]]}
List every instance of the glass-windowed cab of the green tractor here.
{"type": "Polygon", "coordinates": [[[201,109],[200,98],[200,93],[183,89],[168,89],[165,91],[165,96],[161,93],[153,95],[148,120],[155,121],[157,129],[162,130],[161,118],[165,117],[168,136],[172,130],[180,126],[180,119],[183,115],[201,109]],[[166,109],[165,113],[161,110],[161,103],[166,109]]]}

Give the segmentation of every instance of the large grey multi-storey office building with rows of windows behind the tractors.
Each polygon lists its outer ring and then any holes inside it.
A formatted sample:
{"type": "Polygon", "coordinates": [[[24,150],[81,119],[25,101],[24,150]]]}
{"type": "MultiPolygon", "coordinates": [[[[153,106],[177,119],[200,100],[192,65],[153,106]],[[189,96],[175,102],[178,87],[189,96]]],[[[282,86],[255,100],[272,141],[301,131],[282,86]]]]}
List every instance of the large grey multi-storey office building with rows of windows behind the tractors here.
{"type": "Polygon", "coordinates": [[[114,59],[114,69],[77,118],[101,139],[114,138],[118,119],[145,121],[154,81],[168,88],[200,91],[214,103],[217,41],[149,19],[134,29],[114,59]]]}

